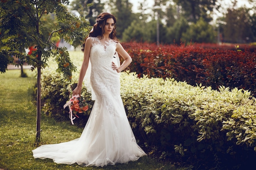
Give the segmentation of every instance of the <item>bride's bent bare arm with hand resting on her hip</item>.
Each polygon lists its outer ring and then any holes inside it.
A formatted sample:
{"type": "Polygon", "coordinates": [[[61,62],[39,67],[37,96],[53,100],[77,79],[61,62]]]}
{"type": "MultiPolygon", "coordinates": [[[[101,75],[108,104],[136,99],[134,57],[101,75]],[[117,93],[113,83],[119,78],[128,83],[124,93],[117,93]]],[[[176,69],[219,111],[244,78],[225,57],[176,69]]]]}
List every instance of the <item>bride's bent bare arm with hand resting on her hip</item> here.
{"type": "Polygon", "coordinates": [[[123,46],[118,43],[117,44],[117,49],[116,49],[117,53],[119,53],[123,58],[124,58],[124,62],[121,64],[121,66],[117,66],[115,65],[114,62],[112,62],[112,68],[113,70],[116,70],[118,73],[120,73],[121,71],[123,71],[126,67],[129,66],[129,64],[132,62],[132,58],[130,57],[130,55],[124,50],[123,46]]]}

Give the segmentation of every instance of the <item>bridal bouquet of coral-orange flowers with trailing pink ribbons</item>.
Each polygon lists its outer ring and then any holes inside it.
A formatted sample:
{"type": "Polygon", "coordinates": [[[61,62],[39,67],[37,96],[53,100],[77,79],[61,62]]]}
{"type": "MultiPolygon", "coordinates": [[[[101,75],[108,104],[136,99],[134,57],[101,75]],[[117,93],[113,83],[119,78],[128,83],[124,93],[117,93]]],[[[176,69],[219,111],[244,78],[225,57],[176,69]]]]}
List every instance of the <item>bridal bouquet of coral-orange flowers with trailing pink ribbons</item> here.
{"type": "Polygon", "coordinates": [[[74,95],[70,100],[63,106],[64,108],[69,107],[70,109],[70,120],[73,123],[73,120],[78,117],[77,113],[85,113],[88,110],[89,105],[85,102],[85,99],[79,95],[74,95]],[[73,117],[74,116],[74,117],[73,117]]]}

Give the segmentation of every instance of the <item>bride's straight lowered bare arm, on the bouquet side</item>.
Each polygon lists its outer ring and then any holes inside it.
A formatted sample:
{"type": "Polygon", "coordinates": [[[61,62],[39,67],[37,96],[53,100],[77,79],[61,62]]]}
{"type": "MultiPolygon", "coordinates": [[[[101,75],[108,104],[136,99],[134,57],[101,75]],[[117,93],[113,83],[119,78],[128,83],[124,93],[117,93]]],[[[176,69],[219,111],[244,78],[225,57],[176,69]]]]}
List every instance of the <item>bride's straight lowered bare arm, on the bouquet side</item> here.
{"type": "Polygon", "coordinates": [[[73,90],[73,95],[81,96],[83,78],[84,78],[85,73],[88,68],[91,47],[92,47],[92,39],[90,37],[88,37],[85,41],[85,47],[84,47],[84,53],[83,53],[83,63],[82,63],[81,70],[79,73],[79,80],[78,80],[76,88],[73,90]]]}

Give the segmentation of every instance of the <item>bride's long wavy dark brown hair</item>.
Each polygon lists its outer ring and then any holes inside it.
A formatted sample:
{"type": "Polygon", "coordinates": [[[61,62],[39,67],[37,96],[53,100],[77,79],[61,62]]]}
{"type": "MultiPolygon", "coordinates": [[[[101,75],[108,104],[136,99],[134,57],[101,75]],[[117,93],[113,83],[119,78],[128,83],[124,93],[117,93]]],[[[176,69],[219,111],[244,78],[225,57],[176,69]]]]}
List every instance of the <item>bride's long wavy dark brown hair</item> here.
{"type": "MultiPolygon", "coordinates": [[[[101,36],[101,38],[103,38],[103,34],[105,33],[104,26],[106,25],[106,22],[109,18],[112,18],[114,20],[114,29],[113,29],[112,33],[110,33],[109,37],[112,40],[115,40],[116,42],[119,42],[119,40],[116,37],[116,35],[117,35],[117,31],[116,31],[117,19],[115,18],[115,16],[113,14],[107,13],[107,12],[100,13],[97,16],[96,23],[94,24],[94,26],[92,28],[92,31],[89,33],[88,37],[101,36]]],[[[85,38],[85,41],[88,37],[85,38]]],[[[83,43],[82,51],[84,51],[85,41],[83,43]]]]}

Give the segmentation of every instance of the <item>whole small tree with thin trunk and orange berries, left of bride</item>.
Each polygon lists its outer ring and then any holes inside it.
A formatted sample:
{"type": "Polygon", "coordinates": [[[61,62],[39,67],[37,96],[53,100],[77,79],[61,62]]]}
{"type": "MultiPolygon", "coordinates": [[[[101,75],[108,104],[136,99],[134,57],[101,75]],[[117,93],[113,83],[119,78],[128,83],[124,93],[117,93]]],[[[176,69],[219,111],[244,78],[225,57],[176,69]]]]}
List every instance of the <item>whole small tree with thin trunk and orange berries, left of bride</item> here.
{"type": "MultiPolygon", "coordinates": [[[[32,65],[37,69],[37,120],[36,142],[40,141],[41,115],[41,69],[47,66],[47,61],[53,57],[58,64],[57,72],[67,79],[72,78],[76,67],[72,64],[67,48],[58,48],[53,40],[63,38],[77,47],[82,44],[89,33],[90,23],[82,17],[76,17],[68,12],[65,4],[69,0],[0,0],[0,71],[4,73],[7,65],[17,56],[21,63],[32,65]],[[46,35],[44,17],[56,17],[49,29],[53,31],[46,35]],[[36,50],[28,55],[25,49],[35,46],[36,50]]],[[[88,4],[91,5],[91,4],[88,4]]]]}

